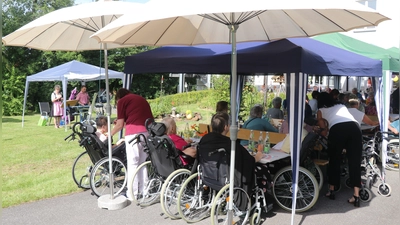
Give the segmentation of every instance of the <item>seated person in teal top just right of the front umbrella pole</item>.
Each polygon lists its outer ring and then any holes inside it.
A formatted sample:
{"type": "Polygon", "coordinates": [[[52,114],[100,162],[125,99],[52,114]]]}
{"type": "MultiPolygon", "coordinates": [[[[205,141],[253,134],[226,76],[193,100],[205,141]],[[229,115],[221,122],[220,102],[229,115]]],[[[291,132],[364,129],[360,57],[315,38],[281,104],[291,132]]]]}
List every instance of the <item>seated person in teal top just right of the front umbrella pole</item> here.
{"type": "MultiPolygon", "coordinates": [[[[243,124],[243,128],[249,130],[259,130],[259,131],[271,131],[278,132],[274,126],[271,125],[268,121],[261,119],[263,112],[263,107],[261,105],[255,105],[250,110],[250,118],[246,120],[243,124]]],[[[248,140],[242,140],[240,144],[243,146],[248,145],[248,140]]]]}

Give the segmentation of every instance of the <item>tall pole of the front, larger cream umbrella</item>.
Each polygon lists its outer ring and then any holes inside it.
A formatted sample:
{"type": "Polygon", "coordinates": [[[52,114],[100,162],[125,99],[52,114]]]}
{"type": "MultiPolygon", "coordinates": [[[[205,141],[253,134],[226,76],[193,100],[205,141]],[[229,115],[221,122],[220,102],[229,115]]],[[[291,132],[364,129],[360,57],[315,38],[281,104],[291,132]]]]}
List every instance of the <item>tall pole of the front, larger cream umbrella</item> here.
{"type": "MultiPolygon", "coordinates": [[[[233,17],[233,13],[231,14],[233,17]]],[[[231,18],[234,21],[234,18],[231,18]]],[[[235,152],[236,152],[236,140],[237,140],[237,121],[236,121],[236,86],[237,86],[237,74],[236,74],[236,30],[238,25],[229,25],[228,28],[231,33],[231,44],[232,44],[232,55],[231,55],[231,71],[232,71],[232,84],[231,84],[231,119],[232,123],[229,128],[230,138],[231,138],[231,165],[230,165],[230,175],[229,175],[229,202],[228,202],[228,223],[232,224],[233,214],[233,188],[235,183],[235,152]]]]}

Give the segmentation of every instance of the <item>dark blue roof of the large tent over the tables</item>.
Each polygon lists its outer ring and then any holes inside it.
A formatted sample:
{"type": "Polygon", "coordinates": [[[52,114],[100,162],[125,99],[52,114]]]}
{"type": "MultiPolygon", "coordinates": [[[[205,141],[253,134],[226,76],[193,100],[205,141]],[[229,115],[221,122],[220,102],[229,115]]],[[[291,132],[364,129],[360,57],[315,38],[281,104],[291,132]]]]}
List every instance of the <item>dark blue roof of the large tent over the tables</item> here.
{"type": "MultiPolygon", "coordinates": [[[[127,74],[230,74],[231,45],[167,46],[125,58],[127,74]]],[[[382,64],[311,38],[237,44],[237,73],[382,76],[382,64]]]]}

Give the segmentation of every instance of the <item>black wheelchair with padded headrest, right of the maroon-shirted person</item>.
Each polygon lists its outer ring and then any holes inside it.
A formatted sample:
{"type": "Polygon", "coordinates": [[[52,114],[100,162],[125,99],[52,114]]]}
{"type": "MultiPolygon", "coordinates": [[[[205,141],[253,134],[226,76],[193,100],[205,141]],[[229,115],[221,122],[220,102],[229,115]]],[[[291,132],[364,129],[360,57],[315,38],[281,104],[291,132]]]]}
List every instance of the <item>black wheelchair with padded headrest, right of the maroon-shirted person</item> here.
{"type": "Polygon", "coordinates": [[[132,140],[142,144],[148,154],[147,160],[138,166],[133,178],[128,181],[129,187],[132,187],[132,201],[146,207],[161,198],[163,211],[175,218],[176,213],[172,212],[175,204],[171,193],[190,171],[179,158],[181,151],[176,150],[172,140],[165,135],[165,125],[148,119],[145,126],[148,136],[141,134],[132,140]],[[137,191],[134,188],[136,185],[137,191]]]}

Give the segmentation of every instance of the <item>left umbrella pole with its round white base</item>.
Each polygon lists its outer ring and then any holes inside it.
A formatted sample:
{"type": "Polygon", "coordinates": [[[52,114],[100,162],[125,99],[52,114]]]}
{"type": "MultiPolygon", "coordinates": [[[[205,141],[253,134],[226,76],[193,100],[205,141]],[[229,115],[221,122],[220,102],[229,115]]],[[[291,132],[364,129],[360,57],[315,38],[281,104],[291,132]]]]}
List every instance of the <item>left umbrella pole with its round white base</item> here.
{"type": "Polygon", "coordinates": [[[107,113],[107,141],[108,141],[108,165],[109,165],[109,186],[110,186],[110,194],[102,195],[98,198],[97,204],[99,208],[105,208],[108,210],[117,210],[123,209],[127,206],[127,200],[123,196],[114,196],[114,171],[112,168],[112,143],[111,143],[111,105],[110,105],[110,87],[108,82],[108,61],[107,61],[107,44],[104,44],[104,72],[105,72],[105,80],[106,80],[106,92],[107,92],[107,105],[106,105],[106,113],[107,113]]]}

